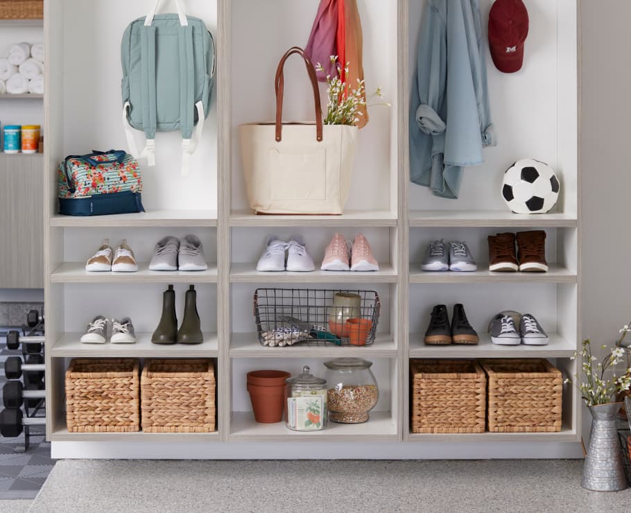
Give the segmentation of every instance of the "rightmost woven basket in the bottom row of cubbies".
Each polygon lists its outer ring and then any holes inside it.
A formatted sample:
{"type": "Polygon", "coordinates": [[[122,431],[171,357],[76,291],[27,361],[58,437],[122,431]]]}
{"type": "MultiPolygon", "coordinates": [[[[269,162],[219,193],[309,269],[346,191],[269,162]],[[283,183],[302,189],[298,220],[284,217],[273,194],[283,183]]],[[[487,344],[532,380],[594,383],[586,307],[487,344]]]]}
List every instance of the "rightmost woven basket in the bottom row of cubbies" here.
{"type": "Polygon", "coordinates": [[[482,360],[489,382],[487,421],[494,433],[561,431],[563,379],[548,360],[482,360]]]}

